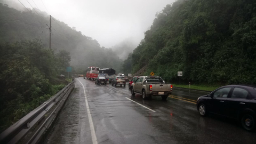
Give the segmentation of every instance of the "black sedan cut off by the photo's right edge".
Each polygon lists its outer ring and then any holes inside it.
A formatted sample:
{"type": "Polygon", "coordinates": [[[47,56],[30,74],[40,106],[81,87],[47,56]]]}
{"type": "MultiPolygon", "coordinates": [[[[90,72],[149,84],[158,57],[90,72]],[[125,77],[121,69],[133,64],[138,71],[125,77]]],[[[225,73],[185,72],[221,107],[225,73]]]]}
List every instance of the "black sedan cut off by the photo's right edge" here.
{"type": "Polygon", "coordinates": [[[214,113],[235,118],[244,129],[255,130],[256,86],[227,85],[197,99],[197,110],[201,116],[214,113]]]}

